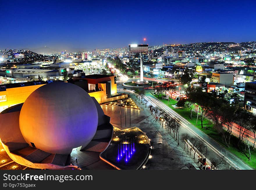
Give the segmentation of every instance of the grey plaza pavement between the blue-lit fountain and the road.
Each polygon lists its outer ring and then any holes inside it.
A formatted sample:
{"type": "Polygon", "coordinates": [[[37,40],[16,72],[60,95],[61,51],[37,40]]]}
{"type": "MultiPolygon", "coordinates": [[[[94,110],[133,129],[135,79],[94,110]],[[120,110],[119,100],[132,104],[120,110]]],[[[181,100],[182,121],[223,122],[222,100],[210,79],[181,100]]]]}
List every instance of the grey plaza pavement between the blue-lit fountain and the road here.
{"type": "MultiPolygon", "coordinates": [[[[176,138],[174,139],[165,127],[162,128],[159,121],[155,121],[154,114],[151,115],[149,108],[145,107],[141,100],[132,94],[131,98],[141,108],[140,110],[131,108],[131,127],[136,126],[145,132],[153,146],[152,158],[147,163],[147,169],[189,169],[187,167],[189,163],[200,165],[197,163],[197,158],[193,159],[192,153],[189,155],[186,150],[183,150],[183,142],[179,142],[180,145],[178,145],[176,138]]],[[[110,122],[113,126],[120,129],[130,127],[129,107],[126,108],[126,127],[124,107],[121,107],[122,126],[120,125],[120,106],[103,106],[102,109],[106,115],[111,117],[110,122]]]]}

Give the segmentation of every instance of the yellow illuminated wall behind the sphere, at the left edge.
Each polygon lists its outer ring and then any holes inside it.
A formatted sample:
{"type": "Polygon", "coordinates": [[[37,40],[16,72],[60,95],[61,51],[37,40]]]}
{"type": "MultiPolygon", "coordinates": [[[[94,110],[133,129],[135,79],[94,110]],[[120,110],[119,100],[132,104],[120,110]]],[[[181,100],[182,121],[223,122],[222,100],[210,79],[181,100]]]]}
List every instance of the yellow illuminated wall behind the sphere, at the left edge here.
{"type": "Polygon", "coordinates": [[[45,84],[7,88],[6,91],[0,91],[0,96],[6,95],[6,101],[0,102],[0,111],[3,111],[10,106],[25,102],[27,97],[29,97],[33,91],[43,85],[45,84]]]}

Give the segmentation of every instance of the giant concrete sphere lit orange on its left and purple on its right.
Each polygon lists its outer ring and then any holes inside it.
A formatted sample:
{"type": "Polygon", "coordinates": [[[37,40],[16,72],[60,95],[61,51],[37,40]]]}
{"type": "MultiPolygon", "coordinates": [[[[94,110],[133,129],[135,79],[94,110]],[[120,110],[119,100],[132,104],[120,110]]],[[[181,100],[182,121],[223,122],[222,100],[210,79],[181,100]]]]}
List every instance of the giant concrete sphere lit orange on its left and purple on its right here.
{"type": "Polygon", "coordinates": [[[77,85],[53,82],[35,90],[19,115],[26,142],[49,153],[70,154],[86,146],[96,133],[98,113],[93,99],[77,85]]]}

